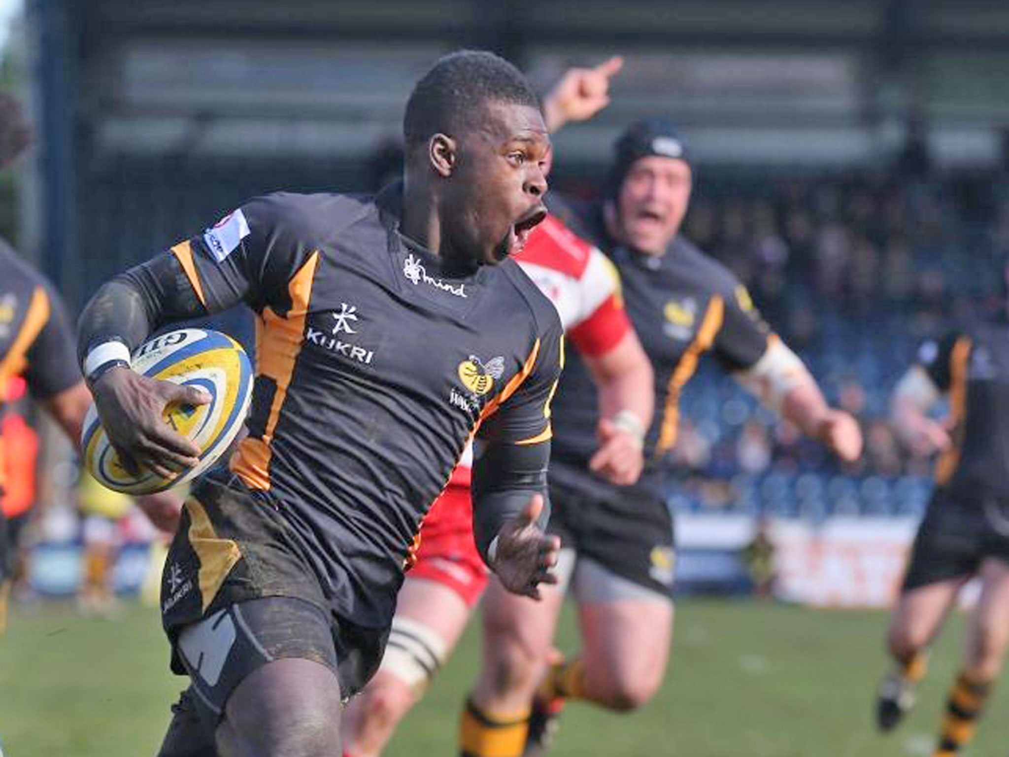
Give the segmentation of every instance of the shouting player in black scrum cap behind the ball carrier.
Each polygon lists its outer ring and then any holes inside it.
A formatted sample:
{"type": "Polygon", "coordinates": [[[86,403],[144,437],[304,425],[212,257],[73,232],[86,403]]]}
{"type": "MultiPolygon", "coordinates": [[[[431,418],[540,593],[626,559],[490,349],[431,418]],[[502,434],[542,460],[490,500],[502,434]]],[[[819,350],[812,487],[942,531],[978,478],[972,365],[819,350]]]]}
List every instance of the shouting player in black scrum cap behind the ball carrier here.
{"type": "Polygon", "coordinates": [[[510,598],[491,581],[483,667],[462,716],[461,753],[468,757],[541,753],[566,699],[628,711],[657,690],[673,620],[668,453],[680,393],[703,353],[712,352],[762,403],[844,460],[861,454],[855,419],[827,406],[736,278],[679,235],[691,183],[680,135],[664,119],[644,120],[616,142],[603,202],[578,219],[616,264],[628,315],[655,368],[646,467],[633,486],[610,484],[589,468],[596,396],[572,355],[555,401],[549,528],[562,537],[560,564],[575,565],[584,646],[577,657],[548,664],[563,579],[539,604],[510,598]]]}

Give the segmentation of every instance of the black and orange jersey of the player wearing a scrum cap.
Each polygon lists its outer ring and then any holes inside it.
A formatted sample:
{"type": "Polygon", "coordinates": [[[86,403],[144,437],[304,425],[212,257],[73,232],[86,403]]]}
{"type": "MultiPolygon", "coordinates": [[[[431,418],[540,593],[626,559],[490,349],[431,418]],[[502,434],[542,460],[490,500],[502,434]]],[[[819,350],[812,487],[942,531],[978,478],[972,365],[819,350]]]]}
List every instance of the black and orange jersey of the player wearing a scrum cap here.
{"type": "MultiPolygon", "coordinates": [[[[736,277],[682,237],[654,256],[614,245],[599,225],[594,228],[595,243],[620,273],[625,308],[655,371],[655,417],[645,454],[648,468],[662,467],[676,443],[680,393],[700,357],[710,351],[726,370],[742,370],[776,337],[736,277]]],[[[597,444],[595,392],[572,353],[554,400],[553,460],[586,467],[597,444]]]]}

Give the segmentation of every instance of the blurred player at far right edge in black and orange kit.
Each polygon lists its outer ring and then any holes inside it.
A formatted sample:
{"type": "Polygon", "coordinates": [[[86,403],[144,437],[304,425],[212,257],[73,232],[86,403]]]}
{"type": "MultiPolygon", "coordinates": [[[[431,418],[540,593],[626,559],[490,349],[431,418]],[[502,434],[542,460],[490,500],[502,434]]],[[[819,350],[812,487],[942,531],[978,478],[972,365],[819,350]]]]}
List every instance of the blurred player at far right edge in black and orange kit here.
{"type": "MultiPolygon", "coordinates": [[[[1009,276],[1009,268],[1005,274],[1009,276]]],[[[1009,290],[1009,282],[1007,282],[1009,290]]],[[[935,490],[894,609],[888,636],[895,665],[879,690],[877,722],[889,731],[911,709],[926,650],[960,589],[981,593],[949,689],[934,757],[974,736],[1009,641],[1009,321],[1005,314],[938,342],[927,341],[894,390],[894,425],[917,454],[940,452],[935,490]],[[949,418],[928,416],[942,397],[949,418]]]]}

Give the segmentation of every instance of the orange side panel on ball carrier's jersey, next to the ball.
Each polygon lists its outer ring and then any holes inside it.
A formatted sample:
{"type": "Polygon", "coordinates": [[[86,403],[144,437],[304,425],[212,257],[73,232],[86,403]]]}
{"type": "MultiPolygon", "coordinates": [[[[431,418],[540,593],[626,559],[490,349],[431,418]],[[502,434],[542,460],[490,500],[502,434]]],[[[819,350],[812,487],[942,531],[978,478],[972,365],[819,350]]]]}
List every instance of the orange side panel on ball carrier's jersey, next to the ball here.
{"type": "Polygon", "coordinates": [[[288,397],[295,361],[305,340],[305,318],[312,297],[318,250],[302,265],[288,285],[291,310],[287,317],[278,316],[270,308],[262,311],[262,320],[256,324],[256,373],[272,379],[276,384],[273,401],[269,407],[266,426],[261,438],[246,437],[238,445],[231,460],[231,469],[251,489],[269,489],[269,443],[281,417],[284,401],[288,397]]]}

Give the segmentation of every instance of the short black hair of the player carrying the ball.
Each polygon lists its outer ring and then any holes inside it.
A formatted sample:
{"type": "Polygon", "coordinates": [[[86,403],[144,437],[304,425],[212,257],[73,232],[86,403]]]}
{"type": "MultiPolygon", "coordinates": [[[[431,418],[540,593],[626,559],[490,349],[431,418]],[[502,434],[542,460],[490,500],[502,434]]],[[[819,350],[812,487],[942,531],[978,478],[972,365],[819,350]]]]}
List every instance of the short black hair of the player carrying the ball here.
{"type": "Polygon", "coordinates": [[[407,149],[432,134],[461,134],[478,123],[490,102],[540,107],[526,77],[503,58],[464,49],[438,59],[414,87],[403,118],[407,149]]]}

